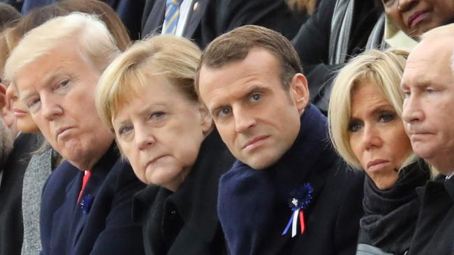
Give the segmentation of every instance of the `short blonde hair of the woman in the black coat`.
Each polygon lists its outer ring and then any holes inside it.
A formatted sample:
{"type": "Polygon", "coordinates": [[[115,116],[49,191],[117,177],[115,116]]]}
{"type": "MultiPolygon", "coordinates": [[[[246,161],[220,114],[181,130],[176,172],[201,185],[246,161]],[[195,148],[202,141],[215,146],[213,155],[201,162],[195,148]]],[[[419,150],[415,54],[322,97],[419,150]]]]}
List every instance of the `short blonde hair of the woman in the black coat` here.
{"type": "Polygon", "coordinates": [[[113,132],[112,118],[129,100],[147,89],[147,78],[162,75],[186,98],[198,102],[194,86],[202,52],[186,38],[151,36],[131,45],[115,59],[98,81],[96,109],[113,132]]]}

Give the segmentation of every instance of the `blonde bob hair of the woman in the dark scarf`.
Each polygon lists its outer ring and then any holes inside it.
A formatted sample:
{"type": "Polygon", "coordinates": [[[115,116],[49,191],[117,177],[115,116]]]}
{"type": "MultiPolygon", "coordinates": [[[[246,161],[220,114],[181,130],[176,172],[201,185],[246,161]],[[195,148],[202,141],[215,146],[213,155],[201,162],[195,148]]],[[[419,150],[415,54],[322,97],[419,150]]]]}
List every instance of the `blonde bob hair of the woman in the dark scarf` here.
{"type": "MultiPolygon", "coordinates": [[[[409,52],[401,49],[386,52],[371,49],[351,59],[335,78],[328,108],[330,138],[337,153],[355,169],[361,169],[361,165],[350,146],[351,95],[358,86],[369,82],[376,84],[379,93],[402,118],[404,94],[400,82],[408,55],[409,52]]],[[[402,167],[414,160],[416,156],[412,153],[402,167]]]]}

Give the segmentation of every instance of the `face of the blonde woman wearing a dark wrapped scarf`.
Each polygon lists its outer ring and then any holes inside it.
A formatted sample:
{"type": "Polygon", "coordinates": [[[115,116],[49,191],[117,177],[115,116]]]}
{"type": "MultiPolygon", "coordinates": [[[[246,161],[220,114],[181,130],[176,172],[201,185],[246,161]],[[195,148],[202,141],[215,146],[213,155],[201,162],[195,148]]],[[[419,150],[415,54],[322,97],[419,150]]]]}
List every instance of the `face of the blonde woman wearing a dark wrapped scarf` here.
{"type": "Polygon", "coordinates": [[[349,139],[353,153],[380,190],[392,187],[412,153],[402,119],[374,83],[358,84],[351,98],[349,139]]]}

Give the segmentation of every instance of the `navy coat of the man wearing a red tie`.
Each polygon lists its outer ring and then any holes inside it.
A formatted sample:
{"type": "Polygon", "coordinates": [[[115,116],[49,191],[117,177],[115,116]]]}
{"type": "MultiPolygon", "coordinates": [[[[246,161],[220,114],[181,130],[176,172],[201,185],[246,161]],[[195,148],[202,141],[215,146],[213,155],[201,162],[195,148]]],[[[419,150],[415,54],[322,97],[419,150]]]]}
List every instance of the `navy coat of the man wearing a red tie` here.
{"type": "Polygon", "coordinates": [[[47,180],[41,203],[41,254],[143,254],[132,222],[133,194],[145,187],[111,146],[77,201],[83,172],[64,162],[47,180]]]}

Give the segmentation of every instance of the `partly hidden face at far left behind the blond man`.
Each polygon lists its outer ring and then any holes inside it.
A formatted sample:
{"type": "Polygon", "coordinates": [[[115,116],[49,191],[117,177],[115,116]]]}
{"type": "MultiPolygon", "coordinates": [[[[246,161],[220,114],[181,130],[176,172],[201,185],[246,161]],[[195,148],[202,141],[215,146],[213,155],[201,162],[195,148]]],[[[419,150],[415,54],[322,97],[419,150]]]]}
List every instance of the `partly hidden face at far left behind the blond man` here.
{"type": "Polygon", "coordinates": [[[21,102],[17,95],[17,88],[15,86],[8,86],[6,89],[6,96],[12,102],[12,110],[16,118],[17,130],[24,133],[39,132],[38,126],[35,124],[27,107],[21,102]]]}

